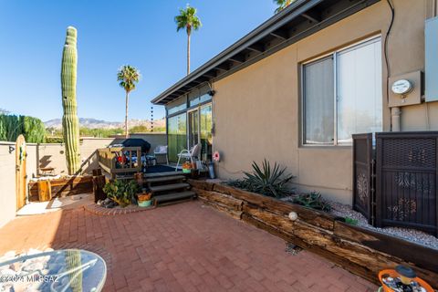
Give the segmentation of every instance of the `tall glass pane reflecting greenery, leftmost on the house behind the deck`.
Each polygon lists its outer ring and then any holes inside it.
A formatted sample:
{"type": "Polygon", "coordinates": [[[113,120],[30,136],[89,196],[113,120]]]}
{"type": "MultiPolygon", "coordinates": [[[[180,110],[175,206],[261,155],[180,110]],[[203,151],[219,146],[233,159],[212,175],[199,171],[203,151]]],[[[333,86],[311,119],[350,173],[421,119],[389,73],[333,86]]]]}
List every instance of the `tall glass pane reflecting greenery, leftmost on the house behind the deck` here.
{"type": "Polygon", "coordinates": [[[182,113],[168,119],[169,162],[177,162],[178,153],[187,148],[187,115],[182,113]]]}

